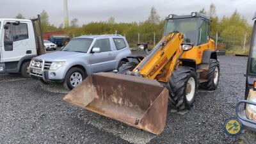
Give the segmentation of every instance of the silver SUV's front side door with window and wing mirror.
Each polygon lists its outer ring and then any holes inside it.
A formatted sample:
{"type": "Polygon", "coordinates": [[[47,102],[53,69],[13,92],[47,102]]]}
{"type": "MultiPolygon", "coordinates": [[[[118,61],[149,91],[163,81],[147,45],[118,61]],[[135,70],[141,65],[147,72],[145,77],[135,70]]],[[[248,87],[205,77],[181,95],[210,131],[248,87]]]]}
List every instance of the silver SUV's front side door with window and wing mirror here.
{"type": "MultiPolygon", "coordinates": [[[[106,72],[113,70],[113,51],[111,49],[111,43],[109,38],[100,38],[95,41],[93,47],[99,47],[99,53],[90,52],[89,62],[92,67],[92,72],[106,72]]],[[[92,49],[93,49],[92,47],[92,49]]]]}

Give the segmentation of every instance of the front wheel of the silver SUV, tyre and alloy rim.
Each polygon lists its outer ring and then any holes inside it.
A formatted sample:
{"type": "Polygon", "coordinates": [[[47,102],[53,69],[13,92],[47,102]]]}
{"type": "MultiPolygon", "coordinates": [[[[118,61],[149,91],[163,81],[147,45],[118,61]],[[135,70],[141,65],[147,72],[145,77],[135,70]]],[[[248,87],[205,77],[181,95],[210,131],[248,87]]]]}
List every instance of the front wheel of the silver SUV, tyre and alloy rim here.
{"type": "Polygon", "coordinates": [[[63,85],[65,88],[72,90],[78,84],[82,83],[85,78],[86,74],[81,68],[73,67],[68,70],[63,85]]]}

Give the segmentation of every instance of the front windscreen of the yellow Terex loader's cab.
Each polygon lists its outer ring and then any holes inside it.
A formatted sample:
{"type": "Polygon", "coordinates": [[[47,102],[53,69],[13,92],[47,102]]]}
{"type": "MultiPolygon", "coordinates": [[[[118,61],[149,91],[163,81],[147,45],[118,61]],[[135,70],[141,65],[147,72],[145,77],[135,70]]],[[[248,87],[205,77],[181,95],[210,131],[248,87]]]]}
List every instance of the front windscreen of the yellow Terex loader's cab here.
{"type": "Polygon", "coordinates": [[[196,44],[196,27],[196,18],[170,19],[166,22],[164,35],[168,35],[168,33],[172,33],[174,31],[179,31],[179,33],[184,34],[185,43],[196,44]]]}

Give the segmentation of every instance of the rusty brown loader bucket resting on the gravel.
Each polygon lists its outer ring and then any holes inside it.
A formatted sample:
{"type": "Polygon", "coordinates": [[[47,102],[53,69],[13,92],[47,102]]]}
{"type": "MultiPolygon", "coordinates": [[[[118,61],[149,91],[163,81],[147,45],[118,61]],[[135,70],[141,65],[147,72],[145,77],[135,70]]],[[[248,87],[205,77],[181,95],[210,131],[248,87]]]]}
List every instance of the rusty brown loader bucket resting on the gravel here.
{"type": "Polygon", "coordinates": [[[64,100],[160,134],[166,122],[168,90],[156,80],[101,72],[88,76],[64,100]]]}

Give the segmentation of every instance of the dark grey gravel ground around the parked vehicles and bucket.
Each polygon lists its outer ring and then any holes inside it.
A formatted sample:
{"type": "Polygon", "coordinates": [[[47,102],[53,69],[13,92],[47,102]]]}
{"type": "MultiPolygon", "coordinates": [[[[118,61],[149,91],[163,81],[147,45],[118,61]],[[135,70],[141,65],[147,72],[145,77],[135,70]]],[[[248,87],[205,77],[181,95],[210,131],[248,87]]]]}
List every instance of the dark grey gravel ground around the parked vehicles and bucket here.
{"type": "Polygon", "coordinates": [[[238,143],[223,123],[244,97],[246,58],[219,59],[218,89],[200,90],[190,111],[169,111],[159,136],[65,102],[60,85],[0,75],[0,143],[238,143]]]}

